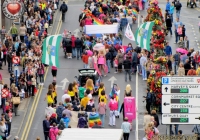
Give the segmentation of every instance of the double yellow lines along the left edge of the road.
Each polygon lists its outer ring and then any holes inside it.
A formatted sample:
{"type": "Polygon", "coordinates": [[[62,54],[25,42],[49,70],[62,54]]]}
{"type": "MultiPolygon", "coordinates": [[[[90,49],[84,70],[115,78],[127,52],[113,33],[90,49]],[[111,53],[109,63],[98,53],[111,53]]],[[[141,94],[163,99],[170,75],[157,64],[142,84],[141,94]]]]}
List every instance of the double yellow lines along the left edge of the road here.
{"type": "MultiPolygon", "coordinates": [[[[60,32],[60,29],[61,29],[61,25],[62,25],[62,22],[61,22],[61,15],[60,15],[60,18],[59,18],[59,23],[58,23],[58,26],[57,26],[57,30],[56,30],[56,33],[55,34],[59,34],[60,32]]],[[[53,30],[52,30],[53,31],[53,30]]],[[[49,67],[46,69],[46,73],[45,73],[45,76],[44,76],[44,80],[46,80],[46,76],[47,76],[47,73],[48,73],[48,70],[49,70],[49,67]]],[[[30,128],[32,126],[32,123],[33,123],[33,118],[35,116],[35,112],[36,112],[36,109],[38,107],[38,102],[39,102],[39,99],[40,99],[40,96],[41,96],[41,93],[42,93],[42,89],[43,89],[43,85],[40,86],[40,89],[38,90],[37,92],[37,95],[33,101],[33,104],[32,104],[32,107],[30,109],[30,114],[28,116],[28,119],[26,121],[26,125],[24,127],[24,131],[22,133],[22,136],[21,136],[21,139],[22,140],[27,140],[28,139],[28,136],[29,136],[29,132],[30,132],[30,128]]]]}

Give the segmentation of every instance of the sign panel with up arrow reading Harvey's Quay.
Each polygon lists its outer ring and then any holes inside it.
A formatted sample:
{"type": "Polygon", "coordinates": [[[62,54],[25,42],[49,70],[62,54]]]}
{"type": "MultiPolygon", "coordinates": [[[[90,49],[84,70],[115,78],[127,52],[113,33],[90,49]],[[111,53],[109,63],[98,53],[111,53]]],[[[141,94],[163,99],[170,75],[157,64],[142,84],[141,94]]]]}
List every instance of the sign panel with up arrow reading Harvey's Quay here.
{"type": "Polygon", "coordinates": [[[162,94],[198,94],[200,85],[163,85],[162,94]]]}

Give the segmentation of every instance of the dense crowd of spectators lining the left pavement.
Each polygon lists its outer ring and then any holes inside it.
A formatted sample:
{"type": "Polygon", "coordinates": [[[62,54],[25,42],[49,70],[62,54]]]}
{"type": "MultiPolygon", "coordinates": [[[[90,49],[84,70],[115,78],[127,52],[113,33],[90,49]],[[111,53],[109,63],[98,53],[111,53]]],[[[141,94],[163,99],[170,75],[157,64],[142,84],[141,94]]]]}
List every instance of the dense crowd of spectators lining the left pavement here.
{"type": "MultiPolygon", "coordinates": [[[[48,35],[57,9],[53,2],[25,1],[24,5],[25,13],[20,19],[20,27],[12,23],[9,30],[5,25],[0,29],[0,68],[7,65],[10,75],[10,83],[7,84],[2,76],[0,78],[0,105],[3,110],[0,136],[3,140],[11,137],[12,119],[19,116],[19,104],[24,98],[34,97],[39,85],[44,83],[46,65],[41,63],[42,41],[48,35]],[[13,71],[12,58],[16,56],[20,58],[19,75],[13,71]]],[[[16,136],[14,139],[19,138],[16,136]]]]}

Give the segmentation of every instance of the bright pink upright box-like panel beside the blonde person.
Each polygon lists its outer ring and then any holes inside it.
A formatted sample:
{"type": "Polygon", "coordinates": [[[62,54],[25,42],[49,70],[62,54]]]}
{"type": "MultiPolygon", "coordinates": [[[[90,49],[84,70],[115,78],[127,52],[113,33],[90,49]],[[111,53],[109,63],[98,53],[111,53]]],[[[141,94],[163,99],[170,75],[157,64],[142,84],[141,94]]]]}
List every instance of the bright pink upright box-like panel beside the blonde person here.
{"type": "Polygon", "coordinates": [[[124,113],[129,122],[132,122],[136,118],[136,104],[134,97],[124,98],[124,113]]]}

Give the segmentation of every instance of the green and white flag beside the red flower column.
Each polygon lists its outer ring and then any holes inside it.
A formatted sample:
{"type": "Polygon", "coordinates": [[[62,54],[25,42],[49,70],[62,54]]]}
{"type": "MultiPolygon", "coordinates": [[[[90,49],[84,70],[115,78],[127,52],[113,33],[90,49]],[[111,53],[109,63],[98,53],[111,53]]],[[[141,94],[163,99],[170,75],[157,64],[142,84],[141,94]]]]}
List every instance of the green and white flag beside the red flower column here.
{"type": "Polygon", "coordinates": [[[150,50],[150,39],[154,22],[145,22],[135,32],[136,44],[146,50],[150,50]]]}

